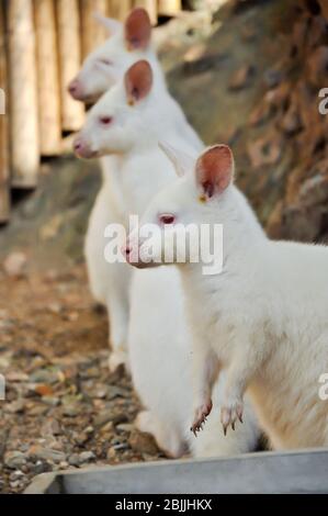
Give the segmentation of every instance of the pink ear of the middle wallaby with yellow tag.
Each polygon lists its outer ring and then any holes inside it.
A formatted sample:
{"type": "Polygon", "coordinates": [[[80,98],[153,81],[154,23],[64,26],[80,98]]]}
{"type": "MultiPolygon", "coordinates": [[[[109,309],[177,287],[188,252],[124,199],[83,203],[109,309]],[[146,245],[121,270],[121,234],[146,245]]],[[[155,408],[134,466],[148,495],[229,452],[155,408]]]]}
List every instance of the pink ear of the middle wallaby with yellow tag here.
{"type": "Polygon", "coordinates": [[[152,87],[152,70],[147,60],[135,63],[125,74],[125,89],[128,104],[145,99],[152,87]]]}

